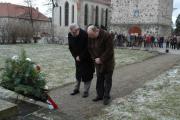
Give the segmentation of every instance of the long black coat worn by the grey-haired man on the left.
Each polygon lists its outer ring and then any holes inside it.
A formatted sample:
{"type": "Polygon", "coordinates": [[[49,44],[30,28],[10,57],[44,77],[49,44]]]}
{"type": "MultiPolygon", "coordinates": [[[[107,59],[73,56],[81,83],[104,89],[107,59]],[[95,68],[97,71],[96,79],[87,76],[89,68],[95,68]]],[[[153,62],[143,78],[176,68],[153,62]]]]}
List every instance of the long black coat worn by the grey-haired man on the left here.
{"type": "Polygon", "coordinates": [[[76,77],[83,78],[84,82],[90,81],[94,73],[94,62],[88,51],[88,35],[80,29],[79,35],[73,37],[68,34],[69,50],[75,60],[76,77]],[[76,57],[80,57],[80,62],[76,61],[76,57]]]}

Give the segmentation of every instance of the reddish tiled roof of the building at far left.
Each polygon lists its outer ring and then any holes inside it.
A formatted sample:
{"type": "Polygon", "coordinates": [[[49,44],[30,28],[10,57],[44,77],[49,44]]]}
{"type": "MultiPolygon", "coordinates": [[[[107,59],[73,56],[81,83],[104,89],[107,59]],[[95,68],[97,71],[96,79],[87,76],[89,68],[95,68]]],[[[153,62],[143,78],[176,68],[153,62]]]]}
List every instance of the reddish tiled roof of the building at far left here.
{"type": "Polygon", "coordinates": [[[49,21],[48,17],[38,11],[38,8],[34,9],[11,3],[0,3],[0,17],[30,19],[30,11],[32,11],[32,18],[34,20],[49,21]]]}

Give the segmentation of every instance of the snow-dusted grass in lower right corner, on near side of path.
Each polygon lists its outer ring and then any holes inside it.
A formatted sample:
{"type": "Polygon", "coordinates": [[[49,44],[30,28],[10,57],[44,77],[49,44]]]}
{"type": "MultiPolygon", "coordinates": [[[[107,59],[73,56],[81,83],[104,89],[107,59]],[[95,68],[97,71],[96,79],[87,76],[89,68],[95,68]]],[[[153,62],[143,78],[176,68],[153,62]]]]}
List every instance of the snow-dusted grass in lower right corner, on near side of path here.
{"type": "Polygon", "coordinates": [[[93,120],[180,120],[180,65],[103,111],[93,120]]]}

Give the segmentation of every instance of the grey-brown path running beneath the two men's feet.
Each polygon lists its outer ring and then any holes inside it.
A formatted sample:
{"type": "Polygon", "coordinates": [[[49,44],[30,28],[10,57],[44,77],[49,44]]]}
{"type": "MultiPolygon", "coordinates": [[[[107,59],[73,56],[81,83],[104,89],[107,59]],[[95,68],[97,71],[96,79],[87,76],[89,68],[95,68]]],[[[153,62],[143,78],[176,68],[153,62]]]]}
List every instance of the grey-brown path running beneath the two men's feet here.
{"type": "MultiPolygon", "coordinates": [[[[148,80],[152,80],[178,63],[180,63],[179,55],[163,54],[141,63],[119,67],[113,75],[112,99],[130,94],[133,90],[142,87],[148,80]]],[[[70,96],[69,93],[72,92],[74,84],[52,90],[50,95],[58,103],[60,111],[43,108],[26,116],[25,119],[87,120],[100,114],[101,109],[105,106],[102,101],[92,102],[96,96],[95,83],[96,79],[93,80],[88,98],[81,97],[83,92],[70,96]]]]}

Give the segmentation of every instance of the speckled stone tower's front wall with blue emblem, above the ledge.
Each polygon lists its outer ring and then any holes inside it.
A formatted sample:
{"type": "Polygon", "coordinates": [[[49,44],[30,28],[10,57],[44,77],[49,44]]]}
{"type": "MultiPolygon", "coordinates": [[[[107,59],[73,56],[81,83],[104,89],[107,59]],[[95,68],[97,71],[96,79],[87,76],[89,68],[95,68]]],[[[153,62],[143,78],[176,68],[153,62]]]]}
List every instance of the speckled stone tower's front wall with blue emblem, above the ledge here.
{"type": "Polygon", "coordinates": [[[158,0],[112,0],[112,24],[156,23],[158,0]]]}

